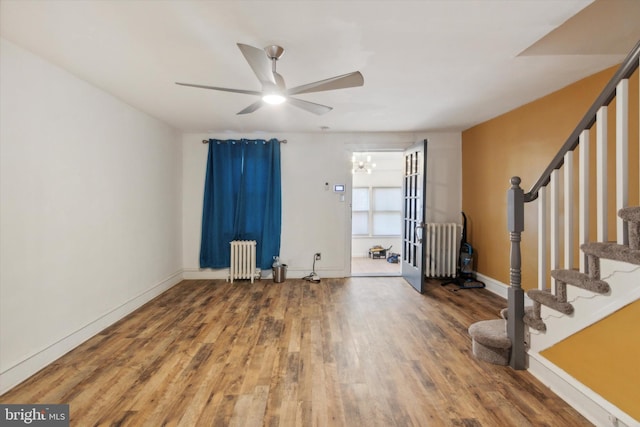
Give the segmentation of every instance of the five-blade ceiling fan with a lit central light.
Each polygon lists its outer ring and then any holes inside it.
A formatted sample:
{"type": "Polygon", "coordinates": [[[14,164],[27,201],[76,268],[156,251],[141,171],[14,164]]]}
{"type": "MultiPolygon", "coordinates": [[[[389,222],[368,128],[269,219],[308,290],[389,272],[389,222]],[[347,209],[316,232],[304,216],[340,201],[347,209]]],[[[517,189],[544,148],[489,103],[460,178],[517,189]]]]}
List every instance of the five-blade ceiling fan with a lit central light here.
{"type": "Polygon", "coordinates": [[[364,84],[364,78],[362,77],[362,74],[359,71],[354,71],[352,73],[343,74],[341,76],[331,77],[325,80],[320,80],[317,82],[287,89],[284,83],[284,78],[282,78],[282,76],[276,72],[276,62],[284,54],[284,48],[276,45],[271,45],[265,47],[264,49],[258,49],[257,47],[249,46],[242,43],[238,43],[238,47],[249,63],[249,66],[255,73],[256,77],[258,77],[258,80],[260,80],[260,83],[262,83],[262,91],[230,89],[225,87],[205,86],[178,82],[176,82],[176,84],[182,86],[198,87],[202,89],[212,89],[220,90],[223,92],[244,93],[247,95],[260,96],[260,100],[249,105],[247,108],[238,112],[237,114],[253,113],[258,108],[264,106],[265,103],[273,105],[281,104],[286,101],[295,107],[318,115],[328,113],[333,108],[326,105],[316,104],[314,102],[293,98],[291,95],[322,92],[335,89],[346,89],[350,87],[362,86],[364,84]]]}

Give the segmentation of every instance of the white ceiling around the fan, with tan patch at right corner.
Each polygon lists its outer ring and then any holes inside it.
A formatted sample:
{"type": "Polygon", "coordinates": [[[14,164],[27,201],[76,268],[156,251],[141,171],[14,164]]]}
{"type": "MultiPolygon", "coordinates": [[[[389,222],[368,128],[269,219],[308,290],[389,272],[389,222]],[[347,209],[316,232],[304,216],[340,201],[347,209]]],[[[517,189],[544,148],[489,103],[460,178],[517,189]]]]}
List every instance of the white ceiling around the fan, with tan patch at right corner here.
{"type": "MultiPolygon", "coordinates": [[[[464,130],[619,63],[638,0],[1,0],[5,39],[183,132],[464,130]],[[363,87],[236,115],[260,90],[238,50],[279,44],[288,87],[363,87]]],[[[1,96],[1,94],[0,94],[1,96]]]]}

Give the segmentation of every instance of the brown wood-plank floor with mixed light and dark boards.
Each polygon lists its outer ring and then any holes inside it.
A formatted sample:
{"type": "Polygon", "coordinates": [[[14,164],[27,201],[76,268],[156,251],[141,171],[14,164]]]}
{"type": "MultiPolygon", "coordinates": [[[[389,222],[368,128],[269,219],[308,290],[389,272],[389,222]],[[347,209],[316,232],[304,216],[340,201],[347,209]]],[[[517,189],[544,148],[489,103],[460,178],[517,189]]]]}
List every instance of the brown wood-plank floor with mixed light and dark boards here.
{"type": "Polygon", "coordinates": [[[72,426],[587,426],[526,371],[475,360],[485,289],[403,279],[184,281],[1,403],[72,426]]]}

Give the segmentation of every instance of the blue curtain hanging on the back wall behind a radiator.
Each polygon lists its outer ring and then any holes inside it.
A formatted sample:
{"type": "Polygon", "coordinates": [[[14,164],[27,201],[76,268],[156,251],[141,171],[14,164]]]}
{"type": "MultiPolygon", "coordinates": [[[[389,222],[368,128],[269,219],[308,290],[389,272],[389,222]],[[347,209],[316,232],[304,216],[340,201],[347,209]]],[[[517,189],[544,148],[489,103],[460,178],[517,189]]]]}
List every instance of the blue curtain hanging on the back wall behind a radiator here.
{"type": "Polygon", "coordinates": [[[280,143],[209,140],[202,210],[200,267],[229,267],[229,242],[255,240],[256,264],[280,255],[280,143]]]}

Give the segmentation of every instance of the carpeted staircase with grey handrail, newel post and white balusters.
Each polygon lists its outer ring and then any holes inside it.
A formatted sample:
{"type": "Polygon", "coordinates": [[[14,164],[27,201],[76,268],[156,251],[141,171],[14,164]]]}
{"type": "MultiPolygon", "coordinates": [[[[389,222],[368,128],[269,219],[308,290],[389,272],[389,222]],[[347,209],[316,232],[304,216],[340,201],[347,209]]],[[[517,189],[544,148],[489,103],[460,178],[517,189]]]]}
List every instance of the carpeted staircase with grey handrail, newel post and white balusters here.
{"type": "MultiPolygon", "coordinates": [[[[574,312],[577,315],[581,308],[580,305],[574,306],[575,301],[568,300],[570,286],[605,298],[612,295],[613,289],[608,282],[611,280],[603,279],[600,274],[602,259],[640,265],[640,207],[629,206],[628,190],[632,175],[628,159],[629,78],[638,69],[639,61],[640,42],[529,192],[525,193],[520,187],[519,177],[511,179],[507,196],[511,241],[508,308],[501,311],[500,318],[476,322],[469,327],[476,358],[509,365],[516,370],[527,369],[527,352],[533,348],[531,340],[536,343],[535,340],[540,339],[539,335],[532,336],[532,331],[548,335],[543,306],[546,313],[553,310],[557,313],[554,317],[565,316],[570,321],[574,312]],[[608,169],[610,124],[607,107],[614,101],[615,118],[611,126],[615,126],[615,141],[612,141],[615,145],[615,167],[608,169]],[[593,134],[595,150],[590,149],[593,134]],[[577,162],[574,161],[575,151],[579,156],[577,162]],[[574,180],[574,164],[578,169],[575,174],[578,180],[574,180]],[[595,171],[590,170],[593,164],[596,165],[595,171]],[[595,186],[590,186],[593,175],[595,186]],[[612,205],[615,204],[615,209],[608,203],[609,181],[614,181],[615,203],[612,205]],[[595,209],[590,203],[592,194],[595,194],[595,209]],[[525,204],[532,202],[536,202],[538,213],[538,284],[537,289],[526,292],[531,304],[525,306],[525,292],[521,287],[520,240],[524,232],[525,204]],[[577,210],[575,214],[574,208],[577,210]],[[615,217],[615,230],[612,229],[611,233],[608,229],[609,215],[612,222],[615,217]],[[578,218],[578,236],[573,232],[574,216],[578,218]],[[592,236],[590,230],[594,225],[597,232],[592,236]],[[610,241],[614,235],[615,241],[610,241]],[[577,259],[574,259],[574,252],[579,254],[577,259]],[[562,264],[561,253],[564,258],[562,264]]],[[[637,123],[637,116],[632,120],[637,123]]],[[[640,146],[640,141],[632,143],[640,146]]],[[[631,179],[640,180],[637,171],[633,174],[631,179]]],[[[541,341],[548,344],[548,340],[541,341]]],[[[618,425],[617,421],[611,425],[618,425]]]]}

